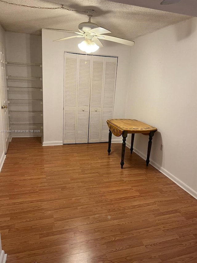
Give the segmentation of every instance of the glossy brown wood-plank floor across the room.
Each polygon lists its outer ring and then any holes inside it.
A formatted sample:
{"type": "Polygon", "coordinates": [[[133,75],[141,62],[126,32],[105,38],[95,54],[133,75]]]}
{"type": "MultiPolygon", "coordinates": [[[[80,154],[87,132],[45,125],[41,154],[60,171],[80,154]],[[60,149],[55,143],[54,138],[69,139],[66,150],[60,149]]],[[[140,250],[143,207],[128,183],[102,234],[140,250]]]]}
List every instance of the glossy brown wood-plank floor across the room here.
{"type": "Polygon", "coordinates": [[[196,263],[197,200],[121,144],[13,138],[0,174],[7,263],[196,263]]]}

